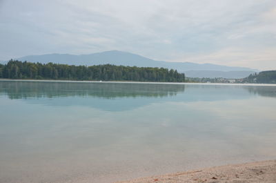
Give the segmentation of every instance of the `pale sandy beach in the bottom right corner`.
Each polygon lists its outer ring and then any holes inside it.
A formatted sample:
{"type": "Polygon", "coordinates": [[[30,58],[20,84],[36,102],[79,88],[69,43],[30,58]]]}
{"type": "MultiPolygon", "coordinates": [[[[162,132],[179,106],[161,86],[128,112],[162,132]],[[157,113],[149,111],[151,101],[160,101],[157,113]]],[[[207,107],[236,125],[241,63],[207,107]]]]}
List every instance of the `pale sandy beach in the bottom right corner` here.
{"type": "Polygon", "coordinates": [[[117,183],[276,183],[276,160],[144,177],[117,183]]]}

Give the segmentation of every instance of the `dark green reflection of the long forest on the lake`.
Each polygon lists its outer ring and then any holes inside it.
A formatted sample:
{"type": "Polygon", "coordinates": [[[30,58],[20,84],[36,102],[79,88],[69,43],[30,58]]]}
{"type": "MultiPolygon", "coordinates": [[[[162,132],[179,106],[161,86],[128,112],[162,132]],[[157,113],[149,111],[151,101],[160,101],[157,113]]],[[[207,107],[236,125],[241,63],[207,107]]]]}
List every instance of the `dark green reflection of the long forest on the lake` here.
{"type": "Polygon", "coordinates": [[[121,83],[78,83],[0,81],[0,94],[10,99],[29,97],[92,96],[112,99],[115,97],[166,97],[184,92],[180,84],[121,84],[121,83]]]}

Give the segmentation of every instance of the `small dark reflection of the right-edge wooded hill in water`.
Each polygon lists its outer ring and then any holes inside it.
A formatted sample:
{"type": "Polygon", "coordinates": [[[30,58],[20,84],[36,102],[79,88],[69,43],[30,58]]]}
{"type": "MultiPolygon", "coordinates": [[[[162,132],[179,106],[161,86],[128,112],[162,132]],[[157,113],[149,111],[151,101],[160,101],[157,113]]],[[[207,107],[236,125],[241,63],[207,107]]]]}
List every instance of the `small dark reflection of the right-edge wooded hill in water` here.
{"type": "Polygon", "coordinates": [[[276,86],[248,86],[249,93],[264,97],[276,97],[276,86]]]}

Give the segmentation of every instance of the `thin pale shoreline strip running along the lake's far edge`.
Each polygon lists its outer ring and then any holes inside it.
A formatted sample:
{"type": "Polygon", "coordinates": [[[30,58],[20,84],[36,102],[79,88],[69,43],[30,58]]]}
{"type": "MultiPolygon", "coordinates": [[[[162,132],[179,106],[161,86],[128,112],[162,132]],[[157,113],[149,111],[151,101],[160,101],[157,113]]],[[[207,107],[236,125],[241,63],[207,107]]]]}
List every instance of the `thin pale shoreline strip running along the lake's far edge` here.
{"type": "Polygon", "coordinates": [[[3,79],[0,81],[36,81],[36,82],[79,82],[79,83],[121,83],[121,84],[185,84],[185,85],[226,85],[226,86],[276,86],[276,84],[226,84],[226,83],[188,83],[188,82],[152,82],[152,81],[79,81],[55,79],[3,79]]]}

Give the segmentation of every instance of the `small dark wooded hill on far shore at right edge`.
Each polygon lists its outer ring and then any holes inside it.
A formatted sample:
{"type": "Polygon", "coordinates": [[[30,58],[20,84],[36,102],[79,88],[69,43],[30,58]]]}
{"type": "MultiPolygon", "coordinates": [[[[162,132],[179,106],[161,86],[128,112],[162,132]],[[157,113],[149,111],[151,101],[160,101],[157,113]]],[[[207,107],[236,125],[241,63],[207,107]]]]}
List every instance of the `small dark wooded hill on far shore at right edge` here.
{"type": "Polygon", "coordinates": [[[249,75],[244,82],[256,84],[276,84],[276,70],[263,71],[259,74],[249,75]]]}

